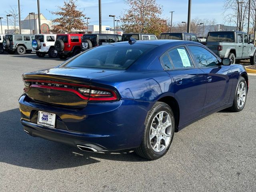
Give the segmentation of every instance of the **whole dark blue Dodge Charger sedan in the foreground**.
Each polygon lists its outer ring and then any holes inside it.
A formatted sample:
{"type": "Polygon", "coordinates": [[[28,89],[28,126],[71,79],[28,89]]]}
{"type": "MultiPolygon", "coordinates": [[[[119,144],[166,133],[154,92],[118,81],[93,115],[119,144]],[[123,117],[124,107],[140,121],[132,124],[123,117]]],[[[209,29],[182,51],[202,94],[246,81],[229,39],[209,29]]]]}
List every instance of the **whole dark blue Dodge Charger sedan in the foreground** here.
{"type": "Polygon", "coordinates": [[[192,122],[243,110],[248,75],[197,42],[119,42],[92,48],[54,68],[23,74],[24,131],[97,152],[134,148],[164,156],[192,122]]]}

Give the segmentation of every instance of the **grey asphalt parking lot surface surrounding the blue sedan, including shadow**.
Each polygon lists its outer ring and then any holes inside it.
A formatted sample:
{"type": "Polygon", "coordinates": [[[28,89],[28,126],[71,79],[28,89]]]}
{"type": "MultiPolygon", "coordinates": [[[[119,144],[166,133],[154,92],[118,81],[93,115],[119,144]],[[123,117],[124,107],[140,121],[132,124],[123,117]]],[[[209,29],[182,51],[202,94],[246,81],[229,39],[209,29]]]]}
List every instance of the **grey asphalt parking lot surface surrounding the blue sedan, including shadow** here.
{"type": "Polygon", "coordinates": [[[63,61],[0,54],[0,191],[256,191],[256,76],[242,112],[221,111],[174,134],[155,161],[131,150],[83,152],[33,138],[20,124],[24,72],[63,61]]]}

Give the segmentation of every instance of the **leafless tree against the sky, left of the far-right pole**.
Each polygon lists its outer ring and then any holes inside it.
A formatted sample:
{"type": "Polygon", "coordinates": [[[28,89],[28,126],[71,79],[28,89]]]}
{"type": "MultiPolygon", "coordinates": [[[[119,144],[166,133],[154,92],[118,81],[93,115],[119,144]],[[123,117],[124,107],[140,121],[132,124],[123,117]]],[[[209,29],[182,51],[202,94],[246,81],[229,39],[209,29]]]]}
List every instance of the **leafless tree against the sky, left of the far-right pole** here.
{"type": "Polygon", "coordinates": [[[235,23],[238,30],[243,31],[247,24],[248,6],[248,0],[224,0],[224,14],[231,11],[224,17],[225,22],[235,23]]]}

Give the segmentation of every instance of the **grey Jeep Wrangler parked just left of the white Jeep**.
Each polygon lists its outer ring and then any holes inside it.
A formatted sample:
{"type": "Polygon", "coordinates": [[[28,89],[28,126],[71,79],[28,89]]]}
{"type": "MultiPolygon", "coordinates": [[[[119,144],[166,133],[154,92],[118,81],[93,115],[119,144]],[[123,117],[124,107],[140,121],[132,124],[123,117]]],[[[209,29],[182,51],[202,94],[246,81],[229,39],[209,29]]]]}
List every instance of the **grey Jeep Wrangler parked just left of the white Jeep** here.
{"type": "Polygon", "coordinates": [[[26,52],[32,52],[33,39],[34,35],[31,34],[8,34],[5,35],[3,46],[9,54],[17,52],[19,55],[23,55],[26,52]]]}

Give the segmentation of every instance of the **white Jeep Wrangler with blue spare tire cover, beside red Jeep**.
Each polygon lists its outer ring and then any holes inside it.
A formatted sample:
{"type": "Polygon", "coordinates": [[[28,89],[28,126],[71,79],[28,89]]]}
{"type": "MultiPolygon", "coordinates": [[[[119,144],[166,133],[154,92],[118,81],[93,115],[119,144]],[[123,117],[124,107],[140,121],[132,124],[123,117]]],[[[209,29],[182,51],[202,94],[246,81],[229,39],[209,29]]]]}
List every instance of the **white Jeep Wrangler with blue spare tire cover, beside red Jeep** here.
{"type": "Polygon", "coordinates": [[[46,54],[50,58],[57,58],[58,52],[54,48],[56,34],[36,34],[32,41],[32,49],[38,57],[44,57],[46,54]]]}

